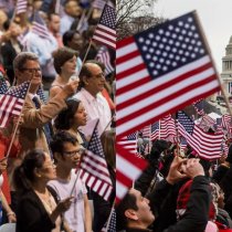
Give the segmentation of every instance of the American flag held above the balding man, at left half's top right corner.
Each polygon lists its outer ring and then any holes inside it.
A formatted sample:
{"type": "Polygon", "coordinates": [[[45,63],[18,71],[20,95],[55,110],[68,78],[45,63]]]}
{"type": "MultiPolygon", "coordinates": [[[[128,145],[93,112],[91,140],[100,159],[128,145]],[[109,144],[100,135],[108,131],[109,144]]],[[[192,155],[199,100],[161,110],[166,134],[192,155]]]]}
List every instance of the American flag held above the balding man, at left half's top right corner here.
{"type": "Polygon", "coordinates": [[[93,41],[116,49],[116,13],[115,9],[105,4],[99,22],[93,35],[93,41]]]}

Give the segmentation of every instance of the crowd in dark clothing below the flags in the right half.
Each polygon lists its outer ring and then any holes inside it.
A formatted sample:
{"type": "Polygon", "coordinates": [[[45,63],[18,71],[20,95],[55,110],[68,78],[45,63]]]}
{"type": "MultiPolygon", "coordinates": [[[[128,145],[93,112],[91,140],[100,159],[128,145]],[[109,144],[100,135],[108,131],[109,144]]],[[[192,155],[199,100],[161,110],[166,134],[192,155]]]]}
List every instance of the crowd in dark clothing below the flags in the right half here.
{"type": "Polygon", "coordinates": [[[205,160],[187,147],[152,143],[148,167],[116,207],[117,231],[218,232],[232,230],[229,154],[205,160]]]}

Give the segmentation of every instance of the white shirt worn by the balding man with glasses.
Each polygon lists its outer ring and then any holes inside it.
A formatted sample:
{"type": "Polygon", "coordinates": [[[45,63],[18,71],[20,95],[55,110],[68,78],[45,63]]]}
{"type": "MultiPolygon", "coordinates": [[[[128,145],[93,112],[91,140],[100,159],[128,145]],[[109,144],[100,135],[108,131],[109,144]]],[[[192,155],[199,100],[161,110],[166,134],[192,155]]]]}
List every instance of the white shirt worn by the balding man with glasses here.
{"type": "Polygon", "coordinates": [[[94,97],[85,88],[82,88],[78,93],[76,93],[73,96],[73,98],[82,101],[85,107],[85,110],[87,113],[86,126],[80,127],[80,129],[85,134],[86,137],[89,136],[87,131],[88,131],[91,122],[96,118],[99,118],[99,124],[97,127],[99,135],[102,135],[102,133],[105,129],[110,128],[109,122],[112,120],[112,112],[110,112],[107,101],[101,93],[98,93],[96,97],[94,97]]]}

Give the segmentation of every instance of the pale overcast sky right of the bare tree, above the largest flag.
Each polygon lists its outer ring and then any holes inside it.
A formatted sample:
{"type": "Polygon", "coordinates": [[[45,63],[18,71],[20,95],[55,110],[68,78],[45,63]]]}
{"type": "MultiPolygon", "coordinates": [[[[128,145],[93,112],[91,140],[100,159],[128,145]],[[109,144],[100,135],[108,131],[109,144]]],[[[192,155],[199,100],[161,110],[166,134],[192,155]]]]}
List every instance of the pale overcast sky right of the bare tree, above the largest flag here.
{"type": "Polygon", "coordinates": [[[222,56],[232,35],[232,0],[158,0],[155,14],[173,19],[197,10],[209,42],[218,72],[222,72],[222,56]]]}

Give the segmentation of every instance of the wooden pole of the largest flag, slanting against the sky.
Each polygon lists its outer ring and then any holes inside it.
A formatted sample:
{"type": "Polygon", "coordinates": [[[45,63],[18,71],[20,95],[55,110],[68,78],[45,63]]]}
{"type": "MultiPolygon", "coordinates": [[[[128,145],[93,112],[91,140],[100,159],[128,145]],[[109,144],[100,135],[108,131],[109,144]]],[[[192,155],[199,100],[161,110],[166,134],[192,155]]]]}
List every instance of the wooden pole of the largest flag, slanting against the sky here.
{"type": "Polygon", "coordinates": [[[219,76],[219,73],[218,73],[217,68],[215,68],[215,63],[214,63],[214,60],[213,60],[213,57],[212,57],[211,50],[210,50],[210,46],[209,46],[209,44],[208,44],[208,42],[207,42],[205,34],[204,34],[203,29],[202,29],[202,25],[201,25],[201,23],[200,23],[199,17],[198,17],[198,14],[197,14],[196,11],[194,11],[193,13],[194,13],[196,20],[198,21],[198,25],[199,25],[199,28],[200,28],[200,32],[201,32],[201,34],[202,34],[202,36],[203,36],[204,45],[205,45],[205,48],[207,48],[207,50],[208,50],[208,52],[209,52],[209,56],[210,56],[210,59],[211,59],[211,61],[212,61],[213,70],[214,70],[214,72],[215,72],[215,74],[217,74],[217,80],[218,80],[218,83],[219,83],[219,85],[220,85],[222,95],[223,95],[224,98],[225,98],[225,105],[228,106],[229,114],[230,114],[231,117],[232,117],[232,109],[231,109],[231,107],[230,107],[229,96],[228,96],[228,94],[225,93],[225,89],[224,89],[224,87],[223,87],[222,81],[221,81],[221,78],[220,78],[220,76],[219,76]]]}

